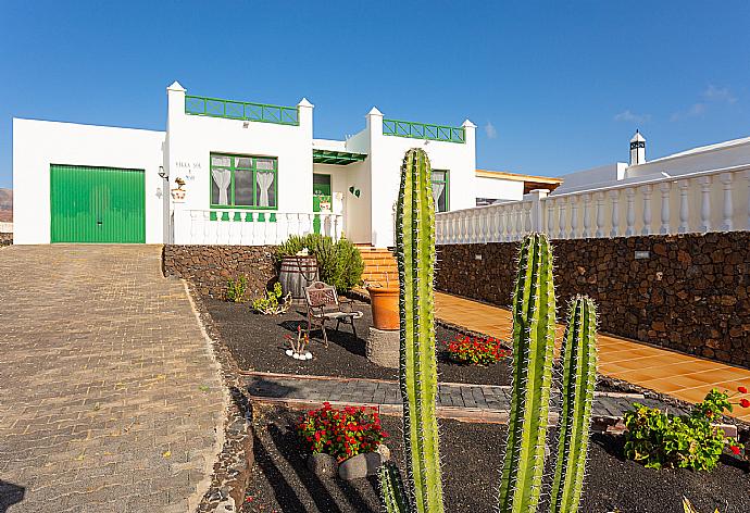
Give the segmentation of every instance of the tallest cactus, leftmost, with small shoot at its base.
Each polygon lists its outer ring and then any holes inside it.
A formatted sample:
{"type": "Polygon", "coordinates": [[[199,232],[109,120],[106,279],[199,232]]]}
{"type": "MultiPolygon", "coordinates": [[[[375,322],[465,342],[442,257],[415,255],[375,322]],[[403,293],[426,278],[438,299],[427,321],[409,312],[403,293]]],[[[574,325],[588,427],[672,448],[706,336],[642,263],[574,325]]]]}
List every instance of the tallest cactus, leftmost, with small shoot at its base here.
{"type": "MultiPolygon", "coordinates": [[[[409,150],[401,166],[396,209],[396,249],[401,316],[399,385],[403,398],[403,438],[412,503],[409,511],[441,513],[442,480],[436,417],[437,360],[435,352],[435,204],[427,153],[409,150]]],[[[380,473],[386,508],[398,501],[398,474],[380,473]]],[[[409,498],[408,498],[409,499],[409,498]]],[[[396,511],[396,510],[389,510],[396,511]]],[[[400,511],[400,510],[399,510],[400,511]]]]}

